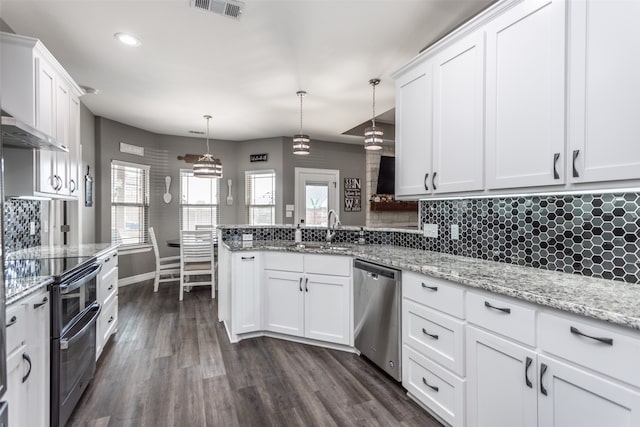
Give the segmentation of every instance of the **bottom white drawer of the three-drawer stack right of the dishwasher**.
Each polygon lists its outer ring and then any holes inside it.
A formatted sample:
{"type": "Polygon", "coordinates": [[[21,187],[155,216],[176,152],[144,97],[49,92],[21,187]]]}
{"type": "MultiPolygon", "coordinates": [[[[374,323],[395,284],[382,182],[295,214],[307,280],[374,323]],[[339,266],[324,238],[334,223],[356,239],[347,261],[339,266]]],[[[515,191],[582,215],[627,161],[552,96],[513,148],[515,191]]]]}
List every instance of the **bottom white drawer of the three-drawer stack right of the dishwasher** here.
{"type": "Polygon", "coordinates": [[[411,347],[402,350],[402,385],[452,426],[464,426],[464,380],[411,347]]]}

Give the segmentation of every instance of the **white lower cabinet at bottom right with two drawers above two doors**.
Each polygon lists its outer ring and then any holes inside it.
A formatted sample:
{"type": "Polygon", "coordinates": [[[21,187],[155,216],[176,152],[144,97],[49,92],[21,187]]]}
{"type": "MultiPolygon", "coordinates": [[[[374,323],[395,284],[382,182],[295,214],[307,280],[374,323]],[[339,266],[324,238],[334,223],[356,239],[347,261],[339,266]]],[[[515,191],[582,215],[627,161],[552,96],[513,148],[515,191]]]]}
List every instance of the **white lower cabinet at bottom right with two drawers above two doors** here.
{"type": "Polygon", "coordinates": [[[636,331],[485,292],[467,310],[468,426],[640,425],[636,331]]]}

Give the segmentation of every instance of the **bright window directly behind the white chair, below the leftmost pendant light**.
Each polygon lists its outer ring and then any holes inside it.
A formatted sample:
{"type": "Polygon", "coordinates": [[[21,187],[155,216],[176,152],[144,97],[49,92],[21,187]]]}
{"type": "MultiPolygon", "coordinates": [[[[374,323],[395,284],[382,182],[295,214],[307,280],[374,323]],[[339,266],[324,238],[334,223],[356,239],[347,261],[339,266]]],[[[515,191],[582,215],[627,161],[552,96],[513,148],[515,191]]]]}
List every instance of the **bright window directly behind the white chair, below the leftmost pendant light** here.
{"type": "Polygon", "coordinates": [[[180,169],[180,229],[216,227],[220,222],[220,180],[197,178],[180,169]]]}

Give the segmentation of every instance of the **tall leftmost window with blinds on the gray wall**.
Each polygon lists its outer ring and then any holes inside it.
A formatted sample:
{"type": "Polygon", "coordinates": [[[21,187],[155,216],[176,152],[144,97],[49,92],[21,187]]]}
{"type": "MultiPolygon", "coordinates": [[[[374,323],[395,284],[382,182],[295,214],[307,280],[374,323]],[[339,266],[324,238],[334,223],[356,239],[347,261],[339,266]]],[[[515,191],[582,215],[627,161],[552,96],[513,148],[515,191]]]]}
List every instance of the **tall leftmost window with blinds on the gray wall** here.
{"type": "Polygon", "coordinates": [[[111,242],[148,242],[149,166],[111,162],[111,242]]]}

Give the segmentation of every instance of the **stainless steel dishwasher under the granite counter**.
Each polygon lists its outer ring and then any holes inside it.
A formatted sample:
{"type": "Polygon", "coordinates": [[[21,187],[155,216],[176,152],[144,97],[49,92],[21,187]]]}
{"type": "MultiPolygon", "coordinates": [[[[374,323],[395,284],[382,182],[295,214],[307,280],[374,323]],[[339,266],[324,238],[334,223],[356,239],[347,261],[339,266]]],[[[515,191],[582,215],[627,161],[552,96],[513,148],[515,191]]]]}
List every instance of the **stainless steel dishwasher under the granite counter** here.
{"type": "Polygon", "coordinates": [[[399,270],[359,259],[353,263],[355,346],[397,381],[402,380],[400,279],[399,270]]]}

